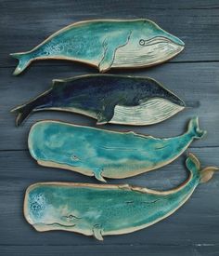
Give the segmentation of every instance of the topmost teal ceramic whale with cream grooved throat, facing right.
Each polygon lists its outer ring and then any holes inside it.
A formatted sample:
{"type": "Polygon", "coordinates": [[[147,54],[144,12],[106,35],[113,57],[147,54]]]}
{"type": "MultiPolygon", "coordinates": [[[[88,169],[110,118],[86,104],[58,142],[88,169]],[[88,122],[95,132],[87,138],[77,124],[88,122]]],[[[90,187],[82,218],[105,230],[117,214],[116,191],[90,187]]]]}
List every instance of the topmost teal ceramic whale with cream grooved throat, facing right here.
{"type": "Polygon", "coordinates": [[[184,43],[150,20],[87,20],[49,36],[32,50],[13,53],[20,74],[36,60],[80,61],[106,72],[110,68],[147,67],[172,59],[184,43]]]}

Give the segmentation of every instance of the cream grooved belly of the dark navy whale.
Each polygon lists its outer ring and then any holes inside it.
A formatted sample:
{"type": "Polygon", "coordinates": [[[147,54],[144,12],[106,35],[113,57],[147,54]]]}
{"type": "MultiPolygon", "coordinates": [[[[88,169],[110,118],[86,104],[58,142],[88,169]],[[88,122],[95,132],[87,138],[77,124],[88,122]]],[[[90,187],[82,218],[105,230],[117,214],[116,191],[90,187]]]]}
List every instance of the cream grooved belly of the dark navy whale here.
{"type": "Polygon", "coordinates": [[[161,98],[154,98],[137,106],[116,105],[110,123],[135,126],[152,125],[160,123],[183,109],[183,106],[161,98]]]}

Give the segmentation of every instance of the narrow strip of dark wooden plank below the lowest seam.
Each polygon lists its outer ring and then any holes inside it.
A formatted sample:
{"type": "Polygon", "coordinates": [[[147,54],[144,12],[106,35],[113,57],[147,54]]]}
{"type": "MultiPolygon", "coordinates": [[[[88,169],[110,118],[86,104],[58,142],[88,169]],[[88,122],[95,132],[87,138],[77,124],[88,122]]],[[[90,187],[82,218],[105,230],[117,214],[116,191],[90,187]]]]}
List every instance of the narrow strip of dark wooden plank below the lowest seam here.
{"type": "Polygon", "coordinates": [[[30,251],[32,256],[58,256],[69,255],[73,251],[74,255],[84,256],[89,255],[92,251],[94,255],[153,255],[153,256],[175,256],[175,255],[199,255],[212,256],[217,255],[219,246],[212,245],[193,245],[193,246],[147,246],[147,245],[101,245],[101,246],[10,246],[2,247],[4,255],[10,256],[29,256],[30,251]],[[103,252],[104,251],[104,252],[103,252]]]}

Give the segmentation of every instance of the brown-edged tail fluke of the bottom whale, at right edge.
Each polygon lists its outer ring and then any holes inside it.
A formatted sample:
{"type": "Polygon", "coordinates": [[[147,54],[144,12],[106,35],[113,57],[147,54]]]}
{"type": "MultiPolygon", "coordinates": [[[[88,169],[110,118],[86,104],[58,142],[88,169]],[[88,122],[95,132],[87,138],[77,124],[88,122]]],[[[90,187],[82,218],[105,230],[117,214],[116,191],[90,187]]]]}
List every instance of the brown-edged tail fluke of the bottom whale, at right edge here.
{"type": "Polygon", "coordinates": [[[213,177],[213,173],[219,170],[219,168],[216,167],[201,169],[199,159],[191,153],[188,154],[186,164],[187,168],[193,173],[193,175],[200,176],[200,183],[208,182],[209,180],[211,180],[213,177]]]}

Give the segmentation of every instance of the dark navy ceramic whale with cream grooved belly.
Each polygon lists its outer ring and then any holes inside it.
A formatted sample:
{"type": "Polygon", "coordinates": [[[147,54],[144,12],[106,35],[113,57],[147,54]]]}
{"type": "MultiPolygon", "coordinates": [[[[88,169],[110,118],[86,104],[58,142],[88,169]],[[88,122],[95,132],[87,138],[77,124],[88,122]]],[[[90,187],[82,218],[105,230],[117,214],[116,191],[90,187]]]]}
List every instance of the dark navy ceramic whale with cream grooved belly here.
{"type": "Polygon", "coordinates": [[[88,115],[97,124],[152,125],[185,108],[171,91],[157,81],[140,76],[88,74],[53,80],[53,86],[12,112],[16,125],[32,112],[60,110],[88,115]],[[92,95],[92,97],[91,97],[92,95]]]}

